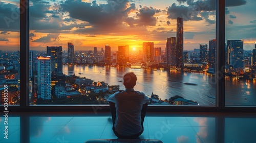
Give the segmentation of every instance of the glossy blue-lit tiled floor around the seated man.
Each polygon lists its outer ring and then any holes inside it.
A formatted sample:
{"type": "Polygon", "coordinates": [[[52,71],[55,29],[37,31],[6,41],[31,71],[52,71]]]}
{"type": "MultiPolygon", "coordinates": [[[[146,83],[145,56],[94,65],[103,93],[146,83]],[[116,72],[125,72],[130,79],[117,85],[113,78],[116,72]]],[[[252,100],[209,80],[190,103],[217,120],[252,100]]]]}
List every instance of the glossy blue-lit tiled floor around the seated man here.
{"type": "MultiPolygon", "coordinates": [[[[4,138],[5,118],[0,118],[0,142],[84,142],[87,139],[117,138],[109,113],[32,114],[8,117],[8,139],[4,138]],[[29,125],[20,126],[20,120],[29,125]],[[21,138],[26,138],[25,141],[21,138]]],[[[256,142],[256,114],[147,113],[140,138],[163,142],[256,142]],[[215,115],[216,114],[216,115],[215,115]]]]}

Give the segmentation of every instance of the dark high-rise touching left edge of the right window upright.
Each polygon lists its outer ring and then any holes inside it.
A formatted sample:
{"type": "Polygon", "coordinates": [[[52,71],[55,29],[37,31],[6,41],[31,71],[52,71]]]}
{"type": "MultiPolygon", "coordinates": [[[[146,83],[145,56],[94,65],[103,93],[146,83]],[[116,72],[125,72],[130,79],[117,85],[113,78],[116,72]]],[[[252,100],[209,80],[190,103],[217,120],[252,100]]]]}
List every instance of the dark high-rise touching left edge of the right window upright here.
{"type": "Polygon", "coordinates": [[[215,68],[216,63],[216,39],[212,39],[209,41],[209,53],[208,53],[208,64],[209,68],[215,68]]]}

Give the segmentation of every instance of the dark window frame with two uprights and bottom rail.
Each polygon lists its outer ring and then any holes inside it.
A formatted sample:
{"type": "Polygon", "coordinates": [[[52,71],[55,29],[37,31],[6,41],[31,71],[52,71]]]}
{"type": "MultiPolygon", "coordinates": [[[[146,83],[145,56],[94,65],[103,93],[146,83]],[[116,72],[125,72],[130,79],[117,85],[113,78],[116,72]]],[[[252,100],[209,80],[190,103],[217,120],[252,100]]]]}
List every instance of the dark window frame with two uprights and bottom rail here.
{"type": "MultiPolygon", "coordinates": [[[[225,105],[225,0],[216,0],[216,106],[148,106],[152,112],[256,112],[256,107],[225,105]]],[[[10,111],[110,111],[106,105],[29,105],[29,0],[20,0],[20,105],[10,111]]],[[[3,110],[3,109],[2,109],[3,110]]]]}

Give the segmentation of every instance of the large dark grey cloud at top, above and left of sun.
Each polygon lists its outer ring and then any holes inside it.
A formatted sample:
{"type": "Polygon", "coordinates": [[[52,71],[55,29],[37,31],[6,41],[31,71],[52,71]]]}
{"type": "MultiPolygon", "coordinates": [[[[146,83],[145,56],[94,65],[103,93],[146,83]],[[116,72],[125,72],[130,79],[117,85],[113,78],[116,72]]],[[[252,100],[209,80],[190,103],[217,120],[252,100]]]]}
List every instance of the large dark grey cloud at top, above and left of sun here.
{"type": "Polygon", "coordinates": [[[108,4],[86,3],[81,0],[67,0],[60,4],[62,12],[67,12],[71,18],[89,22],[94,27],[112,27],[120,25],[135,10],[135,4],[128,0],[118,3],[117,0],[108,1],[108,4]]]}

